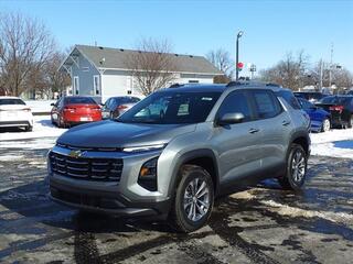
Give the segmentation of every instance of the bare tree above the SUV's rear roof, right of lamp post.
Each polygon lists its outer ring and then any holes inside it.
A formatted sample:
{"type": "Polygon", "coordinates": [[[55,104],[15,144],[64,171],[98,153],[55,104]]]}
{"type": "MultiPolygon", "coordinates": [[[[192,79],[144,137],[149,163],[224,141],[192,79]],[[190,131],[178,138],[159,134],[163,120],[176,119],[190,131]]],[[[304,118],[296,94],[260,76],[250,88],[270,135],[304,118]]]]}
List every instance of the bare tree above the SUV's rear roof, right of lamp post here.
{"type": "Polygon", "coordinates": [[[295,56],[288,53],[286,57],[274,67],[260,73],[260,78],[265,81],[276,82],[284,87],[297,90],[303,87],[308,76],[309,57],[303,51],[295,56]]]}

